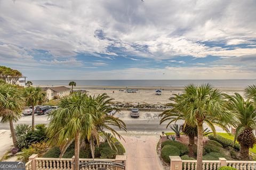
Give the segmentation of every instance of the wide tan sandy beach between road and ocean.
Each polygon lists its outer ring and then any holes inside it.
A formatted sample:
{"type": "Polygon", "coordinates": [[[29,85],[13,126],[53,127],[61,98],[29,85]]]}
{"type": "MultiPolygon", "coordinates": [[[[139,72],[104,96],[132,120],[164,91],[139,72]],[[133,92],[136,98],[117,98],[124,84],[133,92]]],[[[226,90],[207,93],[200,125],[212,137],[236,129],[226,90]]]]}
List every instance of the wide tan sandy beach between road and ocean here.
{"type": "MultiPolygon", "coordinates": [[[[41,86],[46,87],[46,86],[41,86]]],[[[52,86],[55,87],[55,86],[52,86]]],[[[66,86],[71,88],[69,86],[66,86]]],[[[226,94],[232,95],[235,92],[243,94],[242,88],[219,88],[226,94]]],[[[114,98],[115,102],[131,103],[134,105],[140,104],[154,104],[164,105],[169,103],[169,98],[173,94],[182,94],[183,88],[181,87],[121,87],[121,86],[76,86],[74,90],[86,90],[89,95],[100,95],[106,93],[109,97],[114,98]],[[120,90],[123,91],[120,91],[120,90]],[[135,93],[127,93],[127,89],[137,89],[135,93]],[[161,95],[155,95],[155,90],[161,89],[161,95]],[[114,91],[114,92],[113,92],[114,91]]]]}

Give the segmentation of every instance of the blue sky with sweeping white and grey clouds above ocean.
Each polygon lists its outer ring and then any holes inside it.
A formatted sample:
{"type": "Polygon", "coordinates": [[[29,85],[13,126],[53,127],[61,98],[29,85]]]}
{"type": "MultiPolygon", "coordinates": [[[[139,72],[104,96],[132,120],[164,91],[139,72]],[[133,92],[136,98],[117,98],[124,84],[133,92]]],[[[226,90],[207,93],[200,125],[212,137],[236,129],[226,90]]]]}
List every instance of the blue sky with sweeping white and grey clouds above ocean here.
{"type": "Polygon", "coordinates": [[[256,79],[254,0],[0,0],[0,65],[30,80],[256,79]]]}

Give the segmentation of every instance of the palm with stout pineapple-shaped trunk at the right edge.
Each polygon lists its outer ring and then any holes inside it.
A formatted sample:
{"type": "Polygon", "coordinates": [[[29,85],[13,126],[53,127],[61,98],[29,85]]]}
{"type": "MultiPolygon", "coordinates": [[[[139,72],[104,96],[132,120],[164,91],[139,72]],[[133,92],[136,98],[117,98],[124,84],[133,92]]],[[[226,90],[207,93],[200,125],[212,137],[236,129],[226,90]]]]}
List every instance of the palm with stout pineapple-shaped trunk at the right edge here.
{"type": "Polygon", "coordinates": [[[234,96],[226,95],[228,98],[227,108],[237,114],[237,121],[234,123],[236,128],[234,143],[237,140],[240,147],[241,159],[249,159],[249,148],[253,148],[256,138],[253,129],[256,128],[256,107],[250,99],[244,98],[235,93],[234,96]]]}

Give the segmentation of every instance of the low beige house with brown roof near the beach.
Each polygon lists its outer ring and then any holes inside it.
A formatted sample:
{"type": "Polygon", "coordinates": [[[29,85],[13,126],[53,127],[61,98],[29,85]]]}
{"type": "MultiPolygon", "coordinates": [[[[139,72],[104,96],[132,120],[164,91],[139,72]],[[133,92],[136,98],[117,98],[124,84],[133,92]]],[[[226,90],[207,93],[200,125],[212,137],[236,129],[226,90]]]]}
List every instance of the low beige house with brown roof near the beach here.
{"type": "Polygon", "coordinates": [[[68,96],[70,94],[70,89],[65,86],[60,87],[45,87],[43,90],[46,92],[46,97],[49,100],[54,98],[59,98],[63,96],[68,96]]]}

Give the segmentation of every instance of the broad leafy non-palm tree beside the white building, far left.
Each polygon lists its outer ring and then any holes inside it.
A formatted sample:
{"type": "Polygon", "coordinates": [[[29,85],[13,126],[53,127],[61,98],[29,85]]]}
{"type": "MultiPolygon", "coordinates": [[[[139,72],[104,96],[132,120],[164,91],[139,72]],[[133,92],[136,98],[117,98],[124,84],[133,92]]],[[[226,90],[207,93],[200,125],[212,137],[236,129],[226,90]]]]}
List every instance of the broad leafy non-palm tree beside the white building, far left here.
{"type": "Polygon", "coordinates": [[[10,67],[0,66],[0,79],[10,84],[16,84],[22,74],[18,70],[13,70],[10,67]]]}

